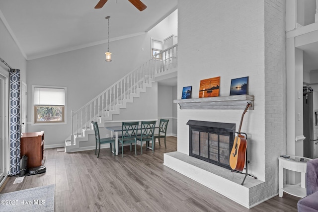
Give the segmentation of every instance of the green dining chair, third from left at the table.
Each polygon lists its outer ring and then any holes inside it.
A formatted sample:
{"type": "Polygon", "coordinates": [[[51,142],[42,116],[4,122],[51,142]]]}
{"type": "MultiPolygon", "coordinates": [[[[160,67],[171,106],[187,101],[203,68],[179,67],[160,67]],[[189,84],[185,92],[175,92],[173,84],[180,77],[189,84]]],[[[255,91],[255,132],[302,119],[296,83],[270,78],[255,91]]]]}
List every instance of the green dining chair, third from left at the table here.
{"type": "Polygon", "coordinates": [[[155,126],[156,121],[142,121],[141,122],[141,134],[137,136],[137,140],[140,141],[141,154],[143,154],[143,142],[146,141],[146,149],[149,147],[149,142],[152,141],[152,150],[155,150],[155,126]]]}

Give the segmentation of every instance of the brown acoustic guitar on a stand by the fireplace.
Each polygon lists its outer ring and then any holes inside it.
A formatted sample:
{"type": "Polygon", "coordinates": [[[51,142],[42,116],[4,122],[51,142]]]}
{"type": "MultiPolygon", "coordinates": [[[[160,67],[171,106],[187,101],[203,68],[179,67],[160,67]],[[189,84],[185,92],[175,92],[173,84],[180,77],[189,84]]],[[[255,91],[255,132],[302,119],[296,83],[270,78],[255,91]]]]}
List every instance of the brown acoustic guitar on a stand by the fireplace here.
{"type": "Polygon", "coordinates": [[[239,172],[243,171],[244,169],[247,149],[247,141],[244,136],[240,135],[240,129],[242,127],[244,114],[246,113],[249,106],[251,106],[251,104],[248,102],[240,119],[238,136],[236,136],[234,139],[235,143],[233,144],[230,154],[230,166],[233,170],[239,172]]]}

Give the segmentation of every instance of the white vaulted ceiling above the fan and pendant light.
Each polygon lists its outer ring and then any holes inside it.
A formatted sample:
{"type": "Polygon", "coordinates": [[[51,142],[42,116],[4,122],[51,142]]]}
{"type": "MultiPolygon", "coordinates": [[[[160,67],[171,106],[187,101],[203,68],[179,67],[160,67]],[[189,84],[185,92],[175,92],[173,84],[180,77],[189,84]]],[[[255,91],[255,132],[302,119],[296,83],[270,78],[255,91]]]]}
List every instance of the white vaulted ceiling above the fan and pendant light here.
{"type": "Polygon", "coordinates": [[[149,31],[177,7],[177,0],[142,0],[139,11],[128,0],[0,0],[0,18],[27,60],[149,31]]]}

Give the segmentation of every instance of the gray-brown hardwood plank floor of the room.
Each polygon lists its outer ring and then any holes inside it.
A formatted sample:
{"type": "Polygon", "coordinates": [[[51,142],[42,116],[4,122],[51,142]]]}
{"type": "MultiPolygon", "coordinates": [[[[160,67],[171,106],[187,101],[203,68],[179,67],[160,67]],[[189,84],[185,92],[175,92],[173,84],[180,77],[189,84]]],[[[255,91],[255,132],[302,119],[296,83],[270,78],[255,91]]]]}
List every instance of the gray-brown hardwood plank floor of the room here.
{"type": "Polygon", "coordinates": [[[300,198],[284,193],[248,210],[211,189],[162,165],[163,153],[176,151],[167,137],[155,153],[140,146],[124,148],[124,157],[109,148],[65,153],[45,149],[47,171],[19,184],[10,177],[1,193],[55,184],[56,212],[297,212],[300,198]]]}

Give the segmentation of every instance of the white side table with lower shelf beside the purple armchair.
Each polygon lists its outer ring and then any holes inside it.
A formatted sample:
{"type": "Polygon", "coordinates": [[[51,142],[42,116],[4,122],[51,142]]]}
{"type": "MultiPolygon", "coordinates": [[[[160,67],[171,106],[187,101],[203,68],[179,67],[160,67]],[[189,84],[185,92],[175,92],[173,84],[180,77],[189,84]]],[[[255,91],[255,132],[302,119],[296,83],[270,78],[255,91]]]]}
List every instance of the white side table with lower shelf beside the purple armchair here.
{"type": "MultiPolygon", "coordinates": [[[[289,155],[290,156],[290,155],[289,155]]],[[[290,156],[289,158],[278,157],[279,161],[279,197],[283,197],[283,192],[294,195],[296,197],[306,196],[306,172],[307,161],[311,160],[306,157],[290,156]],[[300,158],[304,158],[304,162],[300,161],[300,158]],[[296,185],[284,185],[284,169],[301,172],[301,186],[296,185]]]]}

